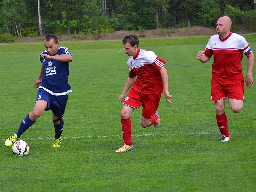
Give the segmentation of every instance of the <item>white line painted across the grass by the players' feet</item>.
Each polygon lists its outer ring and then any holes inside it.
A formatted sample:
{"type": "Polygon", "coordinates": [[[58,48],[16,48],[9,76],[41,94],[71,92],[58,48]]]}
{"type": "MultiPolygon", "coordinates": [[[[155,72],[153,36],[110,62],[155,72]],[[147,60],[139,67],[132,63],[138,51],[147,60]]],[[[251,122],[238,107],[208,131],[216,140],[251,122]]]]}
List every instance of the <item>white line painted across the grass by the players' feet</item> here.
{"type": "MultiPolygon", "coordinates": [[[[232,132],[230,132],[232,133],[232,132]]],[[[256,133],[256,132],[243,132],[243,133],[256,133]]],[[[134,134],[132,137],[150,137],[150,136],[168,136],[168,135],[215,135],[215,134],[220,134],[220,132],[201,132],[201,133],[174,133],[174,134],[134,134]]],[[[88,135],[88,136],[83,136],[83,137],[63,137],[63,139],[86,139],[86,138],[105,138],[105,137],[122,137],[121,134],[119,135],[102,135],[102,136],[97,136],[97,135],[88,135]]],[[[52,140],[53,137],[42,137],[42,138],[26,138],[26,140],[52,140]]],[[[0,141],[4,141],[6,139],[0,139],[0,141]]]]}

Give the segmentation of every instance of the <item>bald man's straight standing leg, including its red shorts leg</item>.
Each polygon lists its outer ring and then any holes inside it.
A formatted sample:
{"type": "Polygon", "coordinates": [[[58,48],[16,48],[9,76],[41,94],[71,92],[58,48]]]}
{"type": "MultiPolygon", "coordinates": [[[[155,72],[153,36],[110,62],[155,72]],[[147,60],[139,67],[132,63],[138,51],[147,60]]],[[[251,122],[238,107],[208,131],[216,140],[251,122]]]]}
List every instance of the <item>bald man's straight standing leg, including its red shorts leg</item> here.
{"type": "Polygon", "coordinates": [[[217,125],[222,135],[220,141],[226,142],[230,140],[230,135],[228,132],[228,119],[225,114],[225,101],[227,97],[227,92],[223,89],[221,83],[221,80],[215,78],[214,75],[212,75],[211,97],[216,111],[217,125]]]}

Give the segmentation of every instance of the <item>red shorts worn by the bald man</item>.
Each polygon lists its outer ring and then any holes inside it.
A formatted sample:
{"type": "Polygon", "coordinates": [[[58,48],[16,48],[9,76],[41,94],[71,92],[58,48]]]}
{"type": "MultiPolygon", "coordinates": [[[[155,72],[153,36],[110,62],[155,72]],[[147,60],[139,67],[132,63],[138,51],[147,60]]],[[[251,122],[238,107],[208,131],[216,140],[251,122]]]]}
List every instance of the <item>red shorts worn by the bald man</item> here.
{"type": "Polygon", "coordinates": [[[244,76],[242,72],[226,78],[212,73],[212,102],[227,98],[227,96],[229,99],[244,101],[244,76]]]}

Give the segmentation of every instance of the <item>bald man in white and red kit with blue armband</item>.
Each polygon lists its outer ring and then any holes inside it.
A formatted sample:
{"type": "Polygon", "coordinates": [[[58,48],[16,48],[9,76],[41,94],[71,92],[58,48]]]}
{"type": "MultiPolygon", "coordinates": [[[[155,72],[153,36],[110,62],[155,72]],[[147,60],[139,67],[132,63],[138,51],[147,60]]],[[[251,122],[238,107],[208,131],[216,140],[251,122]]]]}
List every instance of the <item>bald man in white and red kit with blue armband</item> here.
{"type": "Polygon", "coordinates": [[[244,76],[241,61],[247,57],[246,86],[251,88],[254,54],[243,36],[230,32],[232,22],[227,16],[217,21],[218,35],[211,36],[204,51],[199,51],[196,58],[205,63],[214,55],[212,64],[211,99],[216,110],[217,124],[222,134],[221,142],[230,140],[228,119],[225,114],[225,100],[229,107],[239,113],[244,102],[244,76]]]}

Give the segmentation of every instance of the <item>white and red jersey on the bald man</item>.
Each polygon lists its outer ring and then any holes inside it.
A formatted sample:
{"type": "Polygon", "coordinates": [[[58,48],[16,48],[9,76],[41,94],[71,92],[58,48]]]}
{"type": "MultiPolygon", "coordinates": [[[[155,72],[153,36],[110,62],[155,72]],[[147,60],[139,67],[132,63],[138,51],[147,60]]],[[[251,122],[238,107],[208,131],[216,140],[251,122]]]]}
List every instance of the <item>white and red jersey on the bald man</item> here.
{"type": "Polygon", "coordinates": [[[251,48],[243,36],[230,32],[225,39],[221,39],[219,35],[211,36],[204,54],[208,58],[211,58],[212,54],[214,55],[212,73],[221,77],[229,77],[242,72],[243,53],[249,55],[251,52],[251,48]]]}

